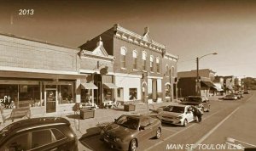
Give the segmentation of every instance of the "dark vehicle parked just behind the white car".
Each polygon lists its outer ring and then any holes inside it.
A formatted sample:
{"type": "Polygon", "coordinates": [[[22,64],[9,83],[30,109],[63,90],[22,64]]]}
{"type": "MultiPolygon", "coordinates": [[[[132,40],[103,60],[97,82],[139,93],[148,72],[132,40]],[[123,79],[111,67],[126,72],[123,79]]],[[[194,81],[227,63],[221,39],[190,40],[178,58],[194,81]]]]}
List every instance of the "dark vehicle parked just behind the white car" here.
{"type": "Polygon", "coordinates": [[[186,104],[186,105],[195,105],[199,109],[201,109],[203,112],[204,111],[210,111],[211,105],[209,102],[209,99],[205,96],[189,96],[185,97],[183,99],[183,102],[181,104],[186,104]]]}

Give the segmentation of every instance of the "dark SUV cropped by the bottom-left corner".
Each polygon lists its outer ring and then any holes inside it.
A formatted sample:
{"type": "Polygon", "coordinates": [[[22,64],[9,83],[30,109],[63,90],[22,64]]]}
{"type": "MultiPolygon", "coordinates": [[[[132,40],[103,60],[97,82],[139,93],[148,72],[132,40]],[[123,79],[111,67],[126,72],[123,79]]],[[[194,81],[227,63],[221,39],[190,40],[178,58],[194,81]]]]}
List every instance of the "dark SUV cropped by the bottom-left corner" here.
{"type": "Polygon", "coordinates": [[[16,121],[0,131],[1,151],[78,151],[78,138],[64,118],[16,121]]]}

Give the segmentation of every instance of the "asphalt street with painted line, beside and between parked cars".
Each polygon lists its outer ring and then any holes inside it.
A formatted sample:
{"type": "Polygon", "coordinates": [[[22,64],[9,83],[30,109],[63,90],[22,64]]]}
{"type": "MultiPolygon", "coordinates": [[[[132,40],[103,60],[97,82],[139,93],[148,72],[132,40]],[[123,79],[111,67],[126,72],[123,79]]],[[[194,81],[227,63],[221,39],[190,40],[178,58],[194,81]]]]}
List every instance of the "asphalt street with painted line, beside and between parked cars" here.
{"type": "MultiPolygon", "coordinates": [[[[186,127],[162,124],[160,139],[144,140],[139,143],[137,150],[237,151],[241,150],[236,148],[237,145],[243,147],[251,147],[246,143],[256,145],[256,92],[251,92],[237,101],[216,100],[210,103],[211,111],[205,112],[201,123],[192,122],[186,127]]],[[[87,137],[80,142],[87,148],[85,150],[113,150],[108,144],[102,143],[99,137],[99,135],[87,137]]]]}

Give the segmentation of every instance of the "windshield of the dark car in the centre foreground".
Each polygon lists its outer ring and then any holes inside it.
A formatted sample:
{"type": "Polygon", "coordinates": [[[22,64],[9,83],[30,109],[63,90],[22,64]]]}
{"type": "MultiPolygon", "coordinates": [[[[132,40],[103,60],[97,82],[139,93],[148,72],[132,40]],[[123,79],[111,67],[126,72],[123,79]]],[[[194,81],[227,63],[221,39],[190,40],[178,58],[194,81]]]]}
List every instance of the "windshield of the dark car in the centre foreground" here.
{"type": "Polygon", "coordinates": [[[115,121],[119,126],[124,126],[132,130],[137,130],[139,125],[139,119],[131,116],[121,116],[118,120],[115,121]]]}

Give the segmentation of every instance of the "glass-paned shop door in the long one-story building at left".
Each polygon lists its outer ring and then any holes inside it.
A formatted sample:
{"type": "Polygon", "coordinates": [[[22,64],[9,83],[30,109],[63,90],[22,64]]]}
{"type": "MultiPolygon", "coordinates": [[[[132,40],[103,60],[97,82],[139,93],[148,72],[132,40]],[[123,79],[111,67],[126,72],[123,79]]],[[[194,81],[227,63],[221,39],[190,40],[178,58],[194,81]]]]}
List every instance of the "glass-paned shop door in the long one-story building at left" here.
{"type": "Polygon", "coordinates": [[[56,90],[45,90],[46,93],[46,113],[56,112],[56,90]]]}

